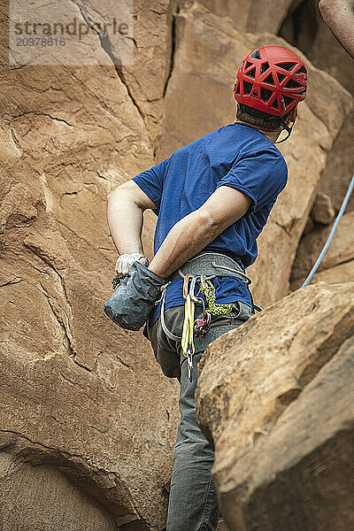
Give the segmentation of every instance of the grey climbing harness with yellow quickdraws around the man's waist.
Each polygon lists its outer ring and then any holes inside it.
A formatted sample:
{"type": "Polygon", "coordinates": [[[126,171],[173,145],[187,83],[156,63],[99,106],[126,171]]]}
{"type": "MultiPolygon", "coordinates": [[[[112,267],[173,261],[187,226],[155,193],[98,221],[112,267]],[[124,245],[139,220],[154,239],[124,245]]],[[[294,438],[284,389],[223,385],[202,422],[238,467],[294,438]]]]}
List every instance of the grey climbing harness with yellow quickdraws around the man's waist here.
{"type": "MultiPolygon", "coordinates": [[[[161,303],[161,326],[165,335],[174,341],[181,340],[181,352],[188,362],[189,381],[192,381],[193,355],[195,353],[194,337],[204,337],[209,332],[212,315],[227,315],[232,312],[232,304],[217,304],[215,301],[215,287],[212,284],[212,279],[216,276],[234,276],[242,280],[247,286],[251,282],[250,277],[243,273],[242,268],[232,258],[221,253],[201,252],[183,264],[172,278],[162,286],[162,295],[155,303],[161,303]],[[212,261],[212,258],[219,258],[219,261],[224,261],[234,267],[217,264],[212,261]],[[205,273],[199,274],[201,270],[205,273]],[[181,336],[174,335],[165,324],[166,289],[178,276],[183,278],[183,298],[185,299],[181,336]],[[196,284],[199,286],[197,293],[196,284]],[[200,293],[204,294],[206,304],[204,299],[199,296],[200,293]],[[203,306],[202,317],[198,319],[195,319],[196,303],[203,306]]],[[[254,305],[254,307],[260,310],[258,306],[254,305]]]]}

